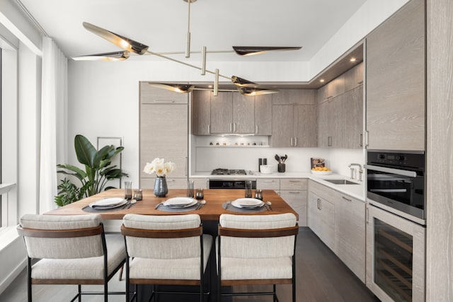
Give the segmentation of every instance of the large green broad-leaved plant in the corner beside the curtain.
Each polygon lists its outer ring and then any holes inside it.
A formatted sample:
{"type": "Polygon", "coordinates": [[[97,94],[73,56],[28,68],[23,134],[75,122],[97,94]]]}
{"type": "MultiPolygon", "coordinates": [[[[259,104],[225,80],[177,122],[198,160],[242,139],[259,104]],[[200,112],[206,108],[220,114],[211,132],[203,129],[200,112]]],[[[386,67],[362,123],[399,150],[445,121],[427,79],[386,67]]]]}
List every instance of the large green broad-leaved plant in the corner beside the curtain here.
{"type": "Polygon", "coordinates": [[[112,165],[112,159],[124,149],[123,146],[116,148],[113,145],[103,146],[96,150],[86,137],[78,134],[74,138],[74,149],[77,160],[85,166],[85,170],[75,165],[57,165],[58,168],[63,169],[58,170],[57,173],[71,175],[81,182],[80,186],[74,184],[69,178],[64,178],[60,182],[58,185],[59,192],[55,197],[55,203],[60,207],[103,190],[112,189],[113,187],[105,187],[109,180],[129,176],[116,165],[112,165]]]}

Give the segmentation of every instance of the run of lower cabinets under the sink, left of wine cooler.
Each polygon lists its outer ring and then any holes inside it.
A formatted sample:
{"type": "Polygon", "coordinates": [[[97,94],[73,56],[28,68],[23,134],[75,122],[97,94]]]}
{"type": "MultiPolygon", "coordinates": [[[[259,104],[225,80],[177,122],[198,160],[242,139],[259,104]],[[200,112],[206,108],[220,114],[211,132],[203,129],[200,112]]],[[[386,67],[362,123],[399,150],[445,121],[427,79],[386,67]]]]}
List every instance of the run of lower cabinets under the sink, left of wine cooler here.
{"type": "Polygon", "coordinates": [[[308,226],[365,283],[365,202],[309,181],[308,226]]]}

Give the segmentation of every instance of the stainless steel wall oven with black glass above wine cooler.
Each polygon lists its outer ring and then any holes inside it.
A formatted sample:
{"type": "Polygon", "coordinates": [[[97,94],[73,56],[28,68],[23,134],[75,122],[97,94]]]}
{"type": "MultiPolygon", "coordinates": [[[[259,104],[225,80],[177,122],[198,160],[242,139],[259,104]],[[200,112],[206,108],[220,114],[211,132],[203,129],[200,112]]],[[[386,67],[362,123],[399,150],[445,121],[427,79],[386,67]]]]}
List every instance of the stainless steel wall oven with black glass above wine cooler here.
{"type": "Polygon", "coordinates": [[[369,201],[425,219],[425,154],[422,151],[370,150],[365,168],[369,201]]]}

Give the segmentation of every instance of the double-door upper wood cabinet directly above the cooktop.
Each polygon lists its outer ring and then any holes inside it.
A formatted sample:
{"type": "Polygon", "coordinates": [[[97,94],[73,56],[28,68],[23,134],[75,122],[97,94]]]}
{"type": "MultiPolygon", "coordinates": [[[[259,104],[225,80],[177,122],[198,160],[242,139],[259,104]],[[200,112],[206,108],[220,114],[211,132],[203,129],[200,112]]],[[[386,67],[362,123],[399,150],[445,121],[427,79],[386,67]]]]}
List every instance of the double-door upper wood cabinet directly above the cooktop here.
{"type": "Polygon", "coordinates": [[[211,94],[211,134],[255,132],[254,99],[240,93],[211,94]]]}

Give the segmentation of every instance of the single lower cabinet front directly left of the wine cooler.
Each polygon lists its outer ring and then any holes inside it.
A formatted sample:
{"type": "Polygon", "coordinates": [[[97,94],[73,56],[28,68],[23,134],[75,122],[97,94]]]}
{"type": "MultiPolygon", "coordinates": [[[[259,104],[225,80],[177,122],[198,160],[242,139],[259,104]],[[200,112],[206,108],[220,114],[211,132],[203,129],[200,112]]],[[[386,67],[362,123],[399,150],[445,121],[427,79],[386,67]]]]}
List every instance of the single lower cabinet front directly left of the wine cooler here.
{"type": "Polygon", "coordinates": [[[365,202],[335,192],[335,251],[365,283],[365,202]]]}

